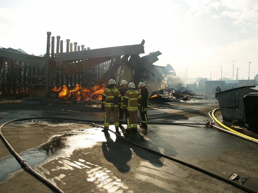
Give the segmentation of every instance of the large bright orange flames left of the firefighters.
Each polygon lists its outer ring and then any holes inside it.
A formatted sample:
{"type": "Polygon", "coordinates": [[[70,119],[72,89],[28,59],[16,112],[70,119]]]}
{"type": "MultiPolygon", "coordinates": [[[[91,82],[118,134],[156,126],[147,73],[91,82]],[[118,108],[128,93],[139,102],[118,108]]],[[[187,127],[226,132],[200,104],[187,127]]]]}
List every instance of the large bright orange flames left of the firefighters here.
{"type": "MultiPolygon", "coordinates": [[[[54,88],[55,91],[58,89],[54,88]]],[[[102,93],[105,89],[105,83],[100,85],[95,85],[92,88],[82,88],[81,85],[76,84],[75,88],[68,89],[66,85],[63,85],[62,90],[60,90],[58,96],[63,100],[75,100],[75,101],[87,101],[89,99],[100,100],[102,93]]],[[[53,89],[52,89],[53,90],[53,89]]]]}

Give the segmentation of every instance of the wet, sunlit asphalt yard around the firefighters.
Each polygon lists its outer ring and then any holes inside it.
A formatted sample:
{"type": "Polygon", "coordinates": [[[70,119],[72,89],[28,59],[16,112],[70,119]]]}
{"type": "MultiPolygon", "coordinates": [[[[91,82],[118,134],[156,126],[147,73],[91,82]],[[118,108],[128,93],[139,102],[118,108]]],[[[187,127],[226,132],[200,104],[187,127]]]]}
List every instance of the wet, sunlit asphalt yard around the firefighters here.
{"type": "MultiPolygon", "coordinates": [[[[39,101],[2,103],[0,122],[33,116],[103,120],[104,113],[94,106],[39,101]]],[[[148,109],[148,120],[202,123],[209,119],[207,113],[217,107],[216,100],[153,104],[148,109]]],[[[6,125],[2,132],[8,136],[14,128],[37,130],[39,125],[52,130],[62,128],[48,136],[45,143],[21,150],[20,155],[65,192],[243,192],[135,147],[113,133],[104,135],[101,129],[90,128],[87,123],[35,121],[37,124],[22,121],[6,125]]],[[[257,144],[202,125],[149,125],[147,130],[139,128],[137,133],[124,137],[225,178],[233,173],[247,176],[244,185],[258,191],[257,144]]],[[[51,192],[22,170],[11,155],[2,156],[0,170],[3,192],[51,192]],[[14,183],[16,187],[11,186],[14,183]]]]}

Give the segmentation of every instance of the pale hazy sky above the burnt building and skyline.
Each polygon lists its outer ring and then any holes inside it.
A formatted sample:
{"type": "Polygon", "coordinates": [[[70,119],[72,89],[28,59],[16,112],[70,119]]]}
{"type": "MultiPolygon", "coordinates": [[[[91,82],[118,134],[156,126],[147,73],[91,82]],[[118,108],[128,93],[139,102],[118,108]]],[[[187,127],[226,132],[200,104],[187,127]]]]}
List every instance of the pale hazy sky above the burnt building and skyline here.
{"type": "MultiPolygon", "coordinates": [[[[140,44],[181,76],[258,74],[257,0],[0,1],[0,46],[46,53],[46,32],[85,47],[140,44]]],[[[65,45],[64,45],[65,48],[65,45]]],[[[236,77],[234,78],[236,79],[236,77]]]]}

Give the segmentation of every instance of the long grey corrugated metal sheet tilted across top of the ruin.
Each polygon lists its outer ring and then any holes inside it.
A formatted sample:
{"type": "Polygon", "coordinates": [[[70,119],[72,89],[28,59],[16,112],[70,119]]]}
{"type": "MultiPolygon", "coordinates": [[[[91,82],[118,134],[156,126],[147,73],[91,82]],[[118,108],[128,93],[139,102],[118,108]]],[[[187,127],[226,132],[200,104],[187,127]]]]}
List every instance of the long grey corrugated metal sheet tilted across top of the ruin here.
{"type": "Polygon", "coordinates": [[[121,56],[121,55],[132,55],[132,54],[142,54],[144,53],[144,46],[142,44],[138,45],[125,45],[116,46],[110,48],[99,48],[92,50],[83,50],[77,52],[64,52],[56,53],[56,61],[78,61],[87,58],[99,58],[107,56],[121,56]]]}

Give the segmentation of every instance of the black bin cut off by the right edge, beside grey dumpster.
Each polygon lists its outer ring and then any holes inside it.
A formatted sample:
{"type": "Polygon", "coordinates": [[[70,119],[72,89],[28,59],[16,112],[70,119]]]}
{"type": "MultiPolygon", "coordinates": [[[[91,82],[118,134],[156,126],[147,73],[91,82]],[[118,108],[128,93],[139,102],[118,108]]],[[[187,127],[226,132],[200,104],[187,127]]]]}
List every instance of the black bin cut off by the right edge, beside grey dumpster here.
{"type": "Polygon", "coordinates": [[[248,93],[243,97],[243,101],[246,126],[258,130],[258,93],[248,93]]]}

